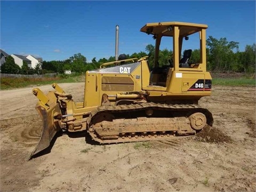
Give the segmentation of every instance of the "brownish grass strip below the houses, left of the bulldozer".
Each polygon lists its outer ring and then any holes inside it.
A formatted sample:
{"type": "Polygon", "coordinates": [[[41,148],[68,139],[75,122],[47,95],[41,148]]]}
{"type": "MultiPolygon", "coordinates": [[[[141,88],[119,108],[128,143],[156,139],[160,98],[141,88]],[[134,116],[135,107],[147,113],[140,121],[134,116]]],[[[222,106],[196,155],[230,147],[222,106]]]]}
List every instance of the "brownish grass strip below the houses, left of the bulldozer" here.
{"type": "Polygon", "coordinates": [[[48,85],[52,83],[75,83],[84,82],[84,76],[57,76],[57,77],[43,77],[43,78],[27,78],[27,77],[1,77],[1,90],[15,89],[28,86],[48,85]]]}

